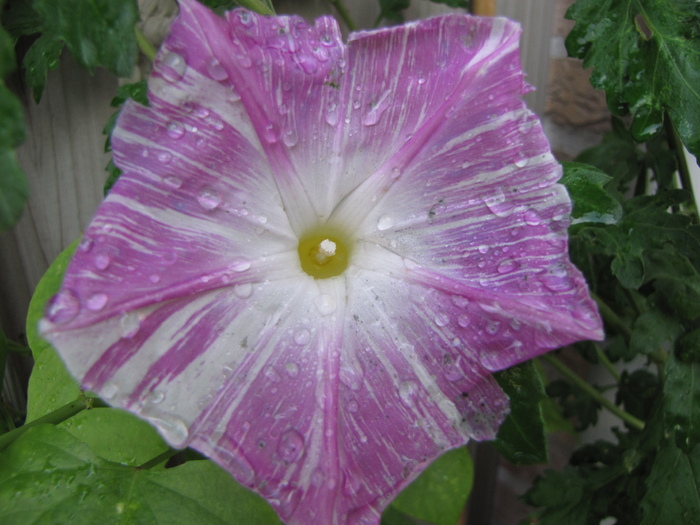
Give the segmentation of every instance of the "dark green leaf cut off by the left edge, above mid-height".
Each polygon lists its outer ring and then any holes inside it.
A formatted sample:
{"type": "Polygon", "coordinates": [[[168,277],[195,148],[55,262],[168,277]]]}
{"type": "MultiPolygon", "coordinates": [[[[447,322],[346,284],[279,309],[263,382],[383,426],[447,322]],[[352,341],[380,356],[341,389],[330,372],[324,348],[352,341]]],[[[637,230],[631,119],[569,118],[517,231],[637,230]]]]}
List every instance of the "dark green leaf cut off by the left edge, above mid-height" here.
{"type": "Polygon", "coordinates": [[[15,153],[25,133],[22,105],[0,81],[0,231],[17,222],[29,196],[15,153]]]}

